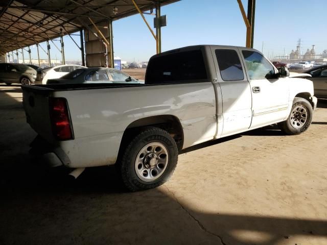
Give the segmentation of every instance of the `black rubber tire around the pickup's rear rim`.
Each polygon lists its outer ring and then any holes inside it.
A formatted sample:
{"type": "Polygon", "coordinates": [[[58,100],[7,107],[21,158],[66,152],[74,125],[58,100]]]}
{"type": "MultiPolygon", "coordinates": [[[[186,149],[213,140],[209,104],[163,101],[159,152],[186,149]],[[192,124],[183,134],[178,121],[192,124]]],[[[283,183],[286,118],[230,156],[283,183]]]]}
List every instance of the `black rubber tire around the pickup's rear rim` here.
{"type": "MultiPolygon", "coordinates": [[[[146,158],[147,156],[143,156],[143,159],[146,158]]],[[[118,164],[117,169],[120,172],[120,176],[123,180],[123,183],[128,190],[130,191],[146,190],[146,189],[152,189],[158,187],[164,184],[166,181],[168,181],[175,170],[175,167],[177,165],[177,160],[178,160],[178,149],[175,140],[170,136],[170,134],[167,131],[159,128],[151,127],[151,128],[145,128],[143,131],[139,132],[132,139],[132,141],[128,144],[126,150],[123,153],[122,160],[117,163],[118,164]],[[157,177],[157,179],[153,181],[151,180],[144,181],[136,173],[137,171],[136,158],[139,156],[139,154],[145,148],[145,146],[147,146],[150,143],[153,144],[160,143],[164,145],[166,151],[168,152],[168,160],[167,163],[165,163],[167,165],[166,168],[162,170],[162,173],[160,173],[160,176],[157,177]]],[[[145,162],[146,160],[142,160],[142,161],[145,162]]],[[[156,165],[158,164],[159,163],[156,163],[156,165]]],[[[145,163],[143,163],[142,169],[145,169],[146,171],[149,170],[149,168],[145,167],[145,163]]],[[[148,173],[150,175],[151,168],[148,173]]]]}

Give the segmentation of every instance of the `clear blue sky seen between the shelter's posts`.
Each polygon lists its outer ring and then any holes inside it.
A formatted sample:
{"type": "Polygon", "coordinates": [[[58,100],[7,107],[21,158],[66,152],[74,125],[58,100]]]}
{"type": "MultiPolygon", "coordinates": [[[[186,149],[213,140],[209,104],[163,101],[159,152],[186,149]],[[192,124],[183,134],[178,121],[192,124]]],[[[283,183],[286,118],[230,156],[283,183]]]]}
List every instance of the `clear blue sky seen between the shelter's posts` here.
{"type": "MultiPolygon", "coordinates": [[[[243,0],[247,12],[247,0],[243,0]]],[[[246,27],[237,0],[182,0],[161,8],[167,27],[161,29],[162,51],[196,44],[245,46],[246,27]]],[[[327,49],[327,0],[256,0],[254,48],[269,58],[289,54],[301,38],[301,51],[315,44],[316,54],[327,49]]],[[[153,27],[153,15],[145,15],[153,27]]],[[[155,30],[155,29],[153,29],[155,30]]],[[[79,37],[74,37],[79,43],[79,37]]],[[[55,41],[60,47],[59,41],[55,41]]],[[[64,37],[66,61],[80,60],[80,50],[64,37]]],[[[45,49],[45,44],[41,44],[45,49]]],[[[147,61],[155,40],[139,14],[113,22],[114,55],[125,61],[147,61]]],[[[21,56],[21,55],[20,55],[21,56]]],[[[51,43],[51,59],[61,59],[51,43]]],[[[25,58],[28,54],[25,53],[25,58]]],[[[36,59],[36,48],[32,58],[36,59]]],[[[40,57],[46,55],[40,50],[40,57]]]]}

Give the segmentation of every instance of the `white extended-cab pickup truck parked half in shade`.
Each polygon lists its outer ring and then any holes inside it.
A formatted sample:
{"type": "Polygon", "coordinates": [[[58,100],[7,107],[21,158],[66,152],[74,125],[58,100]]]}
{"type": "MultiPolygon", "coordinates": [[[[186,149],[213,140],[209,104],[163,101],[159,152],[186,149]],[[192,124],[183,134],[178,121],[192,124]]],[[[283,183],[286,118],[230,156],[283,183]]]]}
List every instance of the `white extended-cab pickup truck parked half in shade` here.
{"type": "MultiPolygon", "coordinates": [[[[198,45],[153,56],[145,84],[24,85],[32,152],[52,166],[116,164],[131,191],[172,175],[178,151],[278,123],[306,131],[317,99],[310,80],[290,78],[260,52],[198,45]]],[[[199,163],[201,164],[201,163],[199,163]]]]}

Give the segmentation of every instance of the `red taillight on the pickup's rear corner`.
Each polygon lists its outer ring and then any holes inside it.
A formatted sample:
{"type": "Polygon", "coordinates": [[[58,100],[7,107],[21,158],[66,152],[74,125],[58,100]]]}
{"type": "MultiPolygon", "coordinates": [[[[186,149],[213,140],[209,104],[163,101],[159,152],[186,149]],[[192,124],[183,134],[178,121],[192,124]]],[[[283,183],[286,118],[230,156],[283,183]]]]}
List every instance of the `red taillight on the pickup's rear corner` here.
{"type": "Polygon", "coordinates": [[[66,99],[50,97],[49,104],[54,136],[59,140],[73,139],[73,131],[66,99]]]}

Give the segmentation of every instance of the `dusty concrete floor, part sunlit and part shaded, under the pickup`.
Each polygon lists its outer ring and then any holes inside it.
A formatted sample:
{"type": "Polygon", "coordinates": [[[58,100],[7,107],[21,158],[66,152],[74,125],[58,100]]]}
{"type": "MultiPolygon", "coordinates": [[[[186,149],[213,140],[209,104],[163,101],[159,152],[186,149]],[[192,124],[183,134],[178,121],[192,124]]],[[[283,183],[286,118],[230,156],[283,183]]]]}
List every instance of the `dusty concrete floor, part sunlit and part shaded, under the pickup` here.
{"type": "Polygon", "coordinates": [[[0,84],[0,244],[327,244],[327,101],[304,134],[195,146],[168,183],[128,193],[113,167],[67,183],[34,163],[21,96],[0,84]]]}

